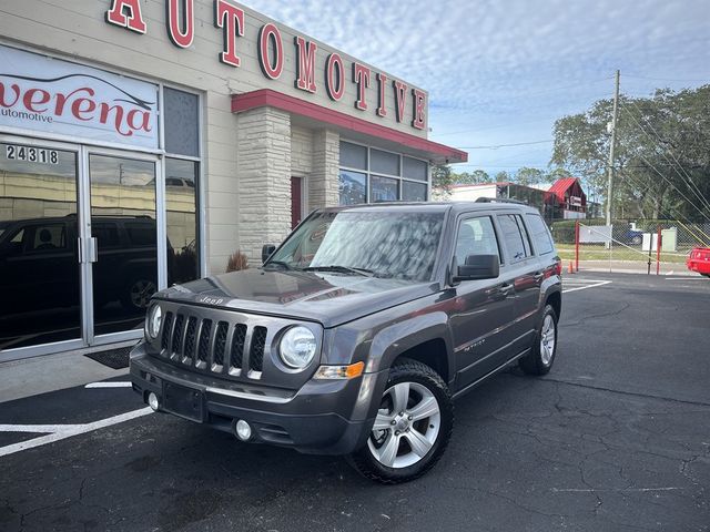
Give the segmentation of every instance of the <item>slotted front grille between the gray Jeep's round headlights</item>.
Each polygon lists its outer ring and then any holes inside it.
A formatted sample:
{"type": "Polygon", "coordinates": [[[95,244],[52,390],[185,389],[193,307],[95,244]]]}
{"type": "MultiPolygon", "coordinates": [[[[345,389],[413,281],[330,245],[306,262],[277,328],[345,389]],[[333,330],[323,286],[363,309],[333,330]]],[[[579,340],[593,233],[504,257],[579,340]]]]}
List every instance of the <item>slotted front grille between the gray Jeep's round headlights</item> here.
{"type": "Polygon", "coordinates": [[[174,364],[210,374],[261,378],[268,329],[189,316],[165,314],[161,355],[174,364]],[[251,332],[251,336],[250,334],[251,332]]]}

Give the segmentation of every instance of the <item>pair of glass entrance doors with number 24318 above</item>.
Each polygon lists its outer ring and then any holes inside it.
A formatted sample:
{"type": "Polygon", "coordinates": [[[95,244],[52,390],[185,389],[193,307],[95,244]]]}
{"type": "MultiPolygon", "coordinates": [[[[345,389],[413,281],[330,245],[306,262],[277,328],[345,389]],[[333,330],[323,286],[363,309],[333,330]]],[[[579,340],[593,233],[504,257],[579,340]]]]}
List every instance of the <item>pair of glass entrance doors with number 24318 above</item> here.
{"type": "Polygon", "coordinates": [[[153,155],[0,139],[0,360],[140,336],[172,253],[159,175],[153,155]]]}

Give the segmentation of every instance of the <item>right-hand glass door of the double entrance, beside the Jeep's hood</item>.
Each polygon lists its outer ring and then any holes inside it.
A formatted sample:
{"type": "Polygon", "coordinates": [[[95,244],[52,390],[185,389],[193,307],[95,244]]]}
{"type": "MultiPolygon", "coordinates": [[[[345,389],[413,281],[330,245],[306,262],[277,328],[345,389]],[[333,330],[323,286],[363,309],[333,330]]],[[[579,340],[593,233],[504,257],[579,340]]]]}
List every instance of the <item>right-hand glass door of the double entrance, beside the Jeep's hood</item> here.
{"type": "Polygon", "coordinates": [[[87,155],[89,344],[135,337],[149,299],[160,286],[159,164],[154,156],[121,152],[87,155]]]}

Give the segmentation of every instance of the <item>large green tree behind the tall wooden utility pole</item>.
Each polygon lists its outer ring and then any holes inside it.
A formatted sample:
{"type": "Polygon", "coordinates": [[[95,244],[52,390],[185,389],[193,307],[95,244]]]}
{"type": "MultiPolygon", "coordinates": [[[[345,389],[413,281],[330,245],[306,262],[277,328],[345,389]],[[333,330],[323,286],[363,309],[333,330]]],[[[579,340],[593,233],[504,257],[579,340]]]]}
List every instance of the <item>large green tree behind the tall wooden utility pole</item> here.
{"type": "MultiPolygon", "coordinates": [[[[555,123],[550,163],[606,197],[611,100],[555,123]]],[[[615,217],[710,221],[710,85],[619,99],[615,217]]]]}

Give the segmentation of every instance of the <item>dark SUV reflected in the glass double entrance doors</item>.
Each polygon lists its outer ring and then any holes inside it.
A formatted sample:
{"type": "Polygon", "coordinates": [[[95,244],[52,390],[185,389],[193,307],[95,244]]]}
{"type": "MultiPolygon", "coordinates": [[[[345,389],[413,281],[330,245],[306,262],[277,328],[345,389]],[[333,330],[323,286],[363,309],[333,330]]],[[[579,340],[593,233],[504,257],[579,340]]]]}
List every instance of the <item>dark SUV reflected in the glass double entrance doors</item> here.
{"type": "MultiPolygon", "coordinates": [[[[158,286],[155,221],[150,216],[93,216],[98,260],[94,306],[148,305],[158,286]]],[[[0,294],[13,313],[79,305],[77,216],[0,222],[0,294]]],[[[172,249],[169,246],[169,257],[172,249]]]]}

